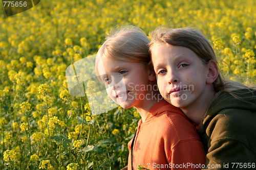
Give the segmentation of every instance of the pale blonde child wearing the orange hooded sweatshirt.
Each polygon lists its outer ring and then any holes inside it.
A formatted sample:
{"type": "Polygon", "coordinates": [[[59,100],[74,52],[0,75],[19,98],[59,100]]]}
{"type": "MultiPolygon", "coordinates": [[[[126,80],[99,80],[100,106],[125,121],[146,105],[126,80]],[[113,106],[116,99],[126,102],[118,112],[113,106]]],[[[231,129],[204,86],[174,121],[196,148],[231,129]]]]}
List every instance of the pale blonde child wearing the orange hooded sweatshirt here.
{"type": "Polygon", "coordinates": [[[110,98],[124,109],[135,107],[141,116],[124,169],[200,169],[203,144],[183,112],[160,97],[149,42],[140,29],[128,27],[107,38],[96,55],[96,74],[110,98]],[[187,163],[197,167],[183,167],[187,163]]]}

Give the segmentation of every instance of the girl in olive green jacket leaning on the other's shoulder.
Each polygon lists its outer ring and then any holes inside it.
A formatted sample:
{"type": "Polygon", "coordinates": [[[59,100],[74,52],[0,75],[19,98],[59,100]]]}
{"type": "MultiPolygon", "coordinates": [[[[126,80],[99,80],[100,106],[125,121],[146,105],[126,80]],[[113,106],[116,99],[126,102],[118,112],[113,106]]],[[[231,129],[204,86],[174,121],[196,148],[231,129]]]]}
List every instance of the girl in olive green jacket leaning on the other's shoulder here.
{"type": "Polygon", "coordinates": [[[161,95],[200,125],[207,152],[203,169],[254,169],[255,89],[223,80],[210,42],[195,29],[158,28],[151,38],[161,95]]]}

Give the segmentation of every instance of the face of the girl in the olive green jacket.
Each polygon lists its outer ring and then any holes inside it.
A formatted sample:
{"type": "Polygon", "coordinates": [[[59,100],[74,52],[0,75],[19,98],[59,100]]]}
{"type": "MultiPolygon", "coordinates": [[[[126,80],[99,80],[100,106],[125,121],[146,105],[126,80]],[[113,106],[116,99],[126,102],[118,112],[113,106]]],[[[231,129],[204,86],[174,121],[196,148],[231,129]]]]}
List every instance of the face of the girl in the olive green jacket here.
{"type": "Polygon", "coordinates": [[[207,65],[189,48],[155,44],[152,62],[163,98],[183,109],[208,105],[207,65]]]}

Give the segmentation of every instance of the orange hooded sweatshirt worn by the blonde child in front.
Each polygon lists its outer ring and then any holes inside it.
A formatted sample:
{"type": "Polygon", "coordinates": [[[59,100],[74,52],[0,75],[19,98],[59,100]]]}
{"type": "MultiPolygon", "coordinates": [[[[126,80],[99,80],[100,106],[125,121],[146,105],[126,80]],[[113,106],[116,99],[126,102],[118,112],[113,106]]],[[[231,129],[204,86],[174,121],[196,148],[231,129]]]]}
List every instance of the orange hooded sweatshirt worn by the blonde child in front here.
{"type": "MultiPolygon", "coordinates": [[[[133,140],[133,139],[132,139],[133,140]]],[[[131,145],[128,143],[128,170],[131,170],[131,145]]],[[[201,169],[205,151],[197,130],[177,107],[162,100],[139,120],[133,147],[133,169],[201,169]]]]}

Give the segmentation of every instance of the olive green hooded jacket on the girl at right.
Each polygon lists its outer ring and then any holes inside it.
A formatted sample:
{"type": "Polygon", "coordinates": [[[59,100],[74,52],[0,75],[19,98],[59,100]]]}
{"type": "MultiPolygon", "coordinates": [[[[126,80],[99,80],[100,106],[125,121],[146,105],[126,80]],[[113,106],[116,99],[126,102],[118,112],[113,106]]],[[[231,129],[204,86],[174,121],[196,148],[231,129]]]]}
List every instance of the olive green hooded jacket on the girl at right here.
{"type": "Polygon", "coordinates": [[[202,169],[256,169],[256,92],[236,92],[239,99],[218,95],[199,127],[207,152],[202,169]]]}

